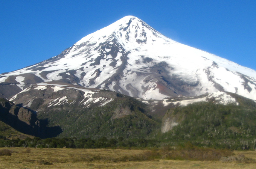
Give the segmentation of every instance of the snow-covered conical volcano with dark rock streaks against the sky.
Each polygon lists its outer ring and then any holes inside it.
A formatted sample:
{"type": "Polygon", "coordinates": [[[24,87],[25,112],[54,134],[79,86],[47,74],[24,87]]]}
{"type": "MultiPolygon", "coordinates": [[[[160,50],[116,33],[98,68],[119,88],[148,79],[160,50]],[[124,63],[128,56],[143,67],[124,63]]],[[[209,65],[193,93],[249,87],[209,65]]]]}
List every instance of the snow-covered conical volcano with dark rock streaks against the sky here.
{"type": "Polygon", "coordinates": [[[79,85],[143,99],[227,91],[256,100],[256,71],[163,36],[126,16],[58,56],[0,74],[8,98],[30,84],[79,85]]]}

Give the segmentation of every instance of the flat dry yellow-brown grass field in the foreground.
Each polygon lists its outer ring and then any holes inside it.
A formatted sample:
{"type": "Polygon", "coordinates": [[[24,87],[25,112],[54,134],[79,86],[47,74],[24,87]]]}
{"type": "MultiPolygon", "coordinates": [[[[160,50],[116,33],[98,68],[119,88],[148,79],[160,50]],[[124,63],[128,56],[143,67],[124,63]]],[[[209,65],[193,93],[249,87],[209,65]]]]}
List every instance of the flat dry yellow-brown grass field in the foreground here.
{"type": "Polygon", "coordinates": [[[235,151],[246,161],[162,160],[149,150],[0,148],[0,169],[255,169],[256,151],[235,151]],[[243,154],[243,155],[241,155],[243,154]]]}

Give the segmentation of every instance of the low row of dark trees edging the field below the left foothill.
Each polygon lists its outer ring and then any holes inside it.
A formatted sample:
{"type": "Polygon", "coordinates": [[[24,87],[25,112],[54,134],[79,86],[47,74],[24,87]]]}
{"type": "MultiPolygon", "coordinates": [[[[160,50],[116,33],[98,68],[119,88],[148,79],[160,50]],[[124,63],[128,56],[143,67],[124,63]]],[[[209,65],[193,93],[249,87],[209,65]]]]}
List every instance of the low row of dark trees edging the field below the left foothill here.
{"type": "Polygon", "coordinates": [[[114,148],[114,147],[158,147],[159,141],[147,139],[124,140],[123,137],[118,139],[107,139],[102,137],[98,140],[77,139],[73,138],[47,138],[40,139],[39,137],[29,138],[24,140],[0,140],[0,147],[34,147],[34,148],[114,148]]]}

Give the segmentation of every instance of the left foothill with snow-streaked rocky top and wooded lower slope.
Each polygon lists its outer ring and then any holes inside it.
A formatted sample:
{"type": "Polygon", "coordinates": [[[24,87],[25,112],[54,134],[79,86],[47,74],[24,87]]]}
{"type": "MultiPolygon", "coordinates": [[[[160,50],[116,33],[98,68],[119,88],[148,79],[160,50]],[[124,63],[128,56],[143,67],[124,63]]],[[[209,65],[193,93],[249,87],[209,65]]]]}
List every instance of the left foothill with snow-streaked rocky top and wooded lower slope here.
{"type": "Polygon", "coordinates": [[[142,138],[160,126],[145,103],[107,90],[44,83],[29,86],[11,100],[47,121],[40,137],[142,138]]]}

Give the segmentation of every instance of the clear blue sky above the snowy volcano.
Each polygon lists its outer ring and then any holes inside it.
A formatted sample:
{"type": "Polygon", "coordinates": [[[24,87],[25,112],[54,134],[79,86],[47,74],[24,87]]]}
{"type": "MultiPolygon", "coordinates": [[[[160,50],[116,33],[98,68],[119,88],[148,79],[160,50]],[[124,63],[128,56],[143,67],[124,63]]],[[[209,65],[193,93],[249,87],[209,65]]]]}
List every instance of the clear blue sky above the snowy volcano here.
{"type": "Polygon", "coordinates": [[[56,56],[126,15],[256,70],[255,0],[0,0],[0,73],[56,56]]]}

